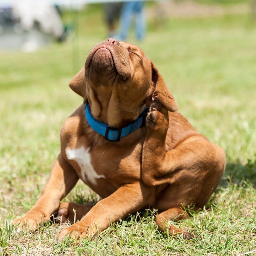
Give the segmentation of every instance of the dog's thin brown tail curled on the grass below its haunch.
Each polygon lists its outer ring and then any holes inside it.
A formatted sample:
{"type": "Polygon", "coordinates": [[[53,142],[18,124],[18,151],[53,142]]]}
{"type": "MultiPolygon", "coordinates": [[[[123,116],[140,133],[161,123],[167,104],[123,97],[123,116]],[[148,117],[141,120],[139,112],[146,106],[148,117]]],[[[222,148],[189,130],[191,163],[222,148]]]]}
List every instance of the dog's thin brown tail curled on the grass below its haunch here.
{"type": "Polygon", "coordinates": [[[168,225],[168,220],[174,220],[174,221],[178,221],[178,220],[182,220],[182,219],[187,219],[188,215],[180,208],[178,207],[173,207],[171,209],[168,209],[164,212],[161,212],[160,214],[158,214],[156,216],[156,224],[158,226],[158,229],[162,232],[167,231],[174,236],[177,234],[182,234],[184,236],[184,238],[192,238],[193,235],[191,233],[189,233],[186,230],[182,230],[180,228],[175,227],[174,225],[168,225]]]}

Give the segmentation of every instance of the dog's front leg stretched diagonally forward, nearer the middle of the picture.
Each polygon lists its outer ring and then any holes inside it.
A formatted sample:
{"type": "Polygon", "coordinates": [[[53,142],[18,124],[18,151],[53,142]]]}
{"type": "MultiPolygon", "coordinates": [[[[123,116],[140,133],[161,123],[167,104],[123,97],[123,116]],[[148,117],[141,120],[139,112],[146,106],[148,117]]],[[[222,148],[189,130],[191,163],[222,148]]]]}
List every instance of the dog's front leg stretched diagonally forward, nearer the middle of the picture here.
{"type": "Polygon", "coordinates": [[[79,222],[63,228],[59,239],[63,240],[68,235],[77,239],[99,234],[111,223],[152,203],[154,196],[153,187],[149,188],[139,182],[126,184],[94,205],[79,222]]]}

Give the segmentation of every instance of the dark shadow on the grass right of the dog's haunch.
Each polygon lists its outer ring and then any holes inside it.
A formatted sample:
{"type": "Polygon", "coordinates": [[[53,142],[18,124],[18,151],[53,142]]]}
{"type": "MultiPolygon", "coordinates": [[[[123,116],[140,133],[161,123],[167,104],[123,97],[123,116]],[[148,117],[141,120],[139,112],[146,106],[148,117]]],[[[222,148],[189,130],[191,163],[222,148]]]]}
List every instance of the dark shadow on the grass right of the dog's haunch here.
{"type": "Polygon", "coordinates": [[[243,180],[248,180],[254,188],[256,187],[256,160],[248,159],[244,165],[239,161],[227,163],[220,186],[227,187],[229,183],[237,184],[243,180]]]}

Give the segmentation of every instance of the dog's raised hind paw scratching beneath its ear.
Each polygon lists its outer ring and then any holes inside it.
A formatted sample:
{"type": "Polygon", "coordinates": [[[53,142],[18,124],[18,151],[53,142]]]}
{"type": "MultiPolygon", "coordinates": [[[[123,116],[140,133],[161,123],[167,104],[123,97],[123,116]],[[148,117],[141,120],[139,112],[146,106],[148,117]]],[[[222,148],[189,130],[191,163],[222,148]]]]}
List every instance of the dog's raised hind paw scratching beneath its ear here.
{"type": "Polygon", "coordinates": [[[166,133],[169,126],[168,110],[157,100],[154,100],[146,117],[146,126],[150,130],[166,133]]]}

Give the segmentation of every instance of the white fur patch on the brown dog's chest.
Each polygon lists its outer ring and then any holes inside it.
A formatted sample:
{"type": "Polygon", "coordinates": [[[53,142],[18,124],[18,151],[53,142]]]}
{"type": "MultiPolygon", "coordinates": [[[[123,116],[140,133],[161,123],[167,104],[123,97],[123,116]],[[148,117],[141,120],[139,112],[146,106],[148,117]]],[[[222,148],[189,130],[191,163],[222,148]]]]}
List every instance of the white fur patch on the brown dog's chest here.
{"type": "Polygon", "coordinates": [[[89,153],[90,147],[86,150],[82,146],[81,148],[70,149],[66,148],[66,155],[69,160],[74,160],[80,166],[81,179],[83,181],[89,181],[93,185],[97,184],[97,179],[105,178],[104,175],[99,175],[94,171],[91,164],[91,155],[89,153]]]}

